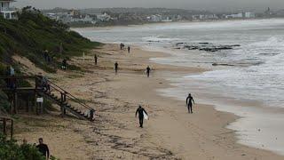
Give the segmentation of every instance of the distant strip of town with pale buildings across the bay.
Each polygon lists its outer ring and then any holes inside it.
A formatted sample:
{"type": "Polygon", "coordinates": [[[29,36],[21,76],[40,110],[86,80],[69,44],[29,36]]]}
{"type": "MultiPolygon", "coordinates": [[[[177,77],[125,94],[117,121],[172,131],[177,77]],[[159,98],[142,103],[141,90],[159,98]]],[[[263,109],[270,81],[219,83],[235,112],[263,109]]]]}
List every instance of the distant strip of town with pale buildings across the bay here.
{"type": "Polygon", "coordinates": [[[99,8],[67,10],[55,8],[43,10],[43,14],[53,20],[60,20],[72,27],[135,25],[172,21],[208,21],[235,19],[263,19],[284,17],[284,10],[263,12],[206,12],[165,8],[99,8]]]}

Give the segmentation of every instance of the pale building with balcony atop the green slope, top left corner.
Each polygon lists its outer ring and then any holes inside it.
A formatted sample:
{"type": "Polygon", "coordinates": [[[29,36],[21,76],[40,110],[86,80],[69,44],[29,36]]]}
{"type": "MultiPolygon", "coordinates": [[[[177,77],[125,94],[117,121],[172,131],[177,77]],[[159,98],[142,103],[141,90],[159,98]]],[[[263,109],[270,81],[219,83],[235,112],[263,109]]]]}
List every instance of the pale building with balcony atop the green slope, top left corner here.
{"type": "Polygon", "coordinates": [[[14,0],[0,0],[0,15],[4,17],[4,19],[16,19],[16,9],[12,7],[12,3],[14,0]]]}

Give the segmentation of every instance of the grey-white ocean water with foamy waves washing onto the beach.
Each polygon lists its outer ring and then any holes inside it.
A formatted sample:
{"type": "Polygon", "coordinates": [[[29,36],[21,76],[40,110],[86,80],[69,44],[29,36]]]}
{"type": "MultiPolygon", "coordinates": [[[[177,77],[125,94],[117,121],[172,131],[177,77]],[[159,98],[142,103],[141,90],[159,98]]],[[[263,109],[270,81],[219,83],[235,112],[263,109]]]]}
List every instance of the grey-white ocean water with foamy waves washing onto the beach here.
{"type": "Polygon", "coordinates": [[[170,53],[170,57],[151,59],[158,63],[208,68],[198,75],[168,76],[173,87],[158,92],[177,99],[192,92],[201,103],[241,116],[227,126],[237,131],[241,144],[284,155],[284,19],[75,30],[91,40],[170,53]],[[202,52],[177,49],[177,43],[241,46],[202,52]],[[212,63],[230,66],[214,67],[212,63]]]}

